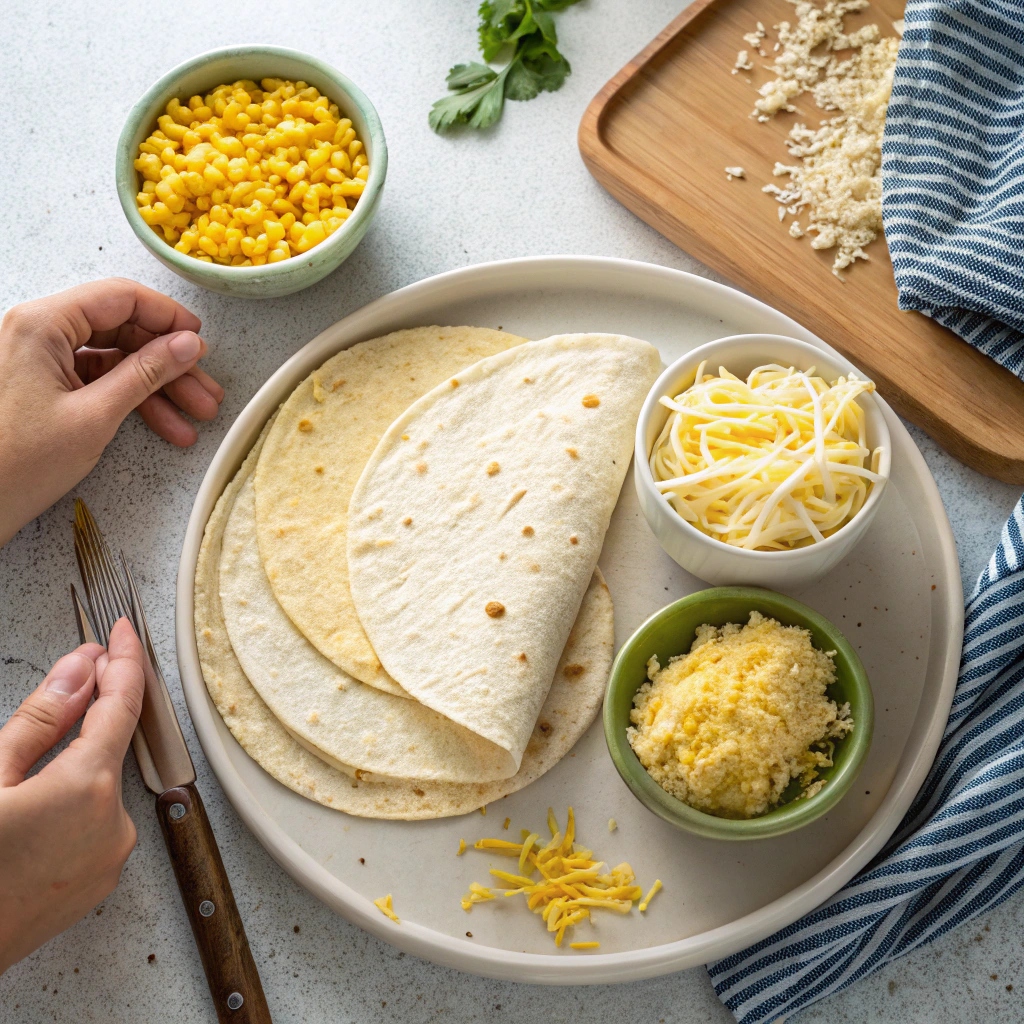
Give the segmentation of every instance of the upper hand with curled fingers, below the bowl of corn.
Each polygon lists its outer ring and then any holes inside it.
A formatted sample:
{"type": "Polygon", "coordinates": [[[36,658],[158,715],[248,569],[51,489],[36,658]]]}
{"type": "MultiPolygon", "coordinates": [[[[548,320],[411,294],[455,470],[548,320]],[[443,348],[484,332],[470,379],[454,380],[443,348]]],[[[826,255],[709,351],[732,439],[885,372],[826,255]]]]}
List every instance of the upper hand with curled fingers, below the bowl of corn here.
{"type": "Polygon", "coordinates": [[[79,482],[133,410],[172,444],[212,420],[200,319],[112,278],[14,306],[0,323],[0,546],[79,482]]]}

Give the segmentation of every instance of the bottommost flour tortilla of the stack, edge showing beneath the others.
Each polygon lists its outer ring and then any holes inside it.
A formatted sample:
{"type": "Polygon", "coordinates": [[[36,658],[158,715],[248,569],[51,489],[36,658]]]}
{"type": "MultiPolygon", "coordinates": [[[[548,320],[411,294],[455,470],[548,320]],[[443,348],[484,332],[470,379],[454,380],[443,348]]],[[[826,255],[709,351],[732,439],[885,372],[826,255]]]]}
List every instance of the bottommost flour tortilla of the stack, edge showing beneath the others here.
{"type": "Polygon", "coordinates": [[[260,767],[300,796],[361,817],[449,817],[528,785],[553,768],[586,732],[601,706],[611,667],[611,597],[595,571],[565,645],[518,773],[500,782],[357,781],[349,766],[332,767],[303,748],[274,718],[242,671],[224,627],[219,562],[224,525],[253,472],[272,420],[221,495],[207,523],[196,567],[196,640],[207,689],[232,736],[260,767]],[[566,671],[567,670],[567,671],[566,671]]]}

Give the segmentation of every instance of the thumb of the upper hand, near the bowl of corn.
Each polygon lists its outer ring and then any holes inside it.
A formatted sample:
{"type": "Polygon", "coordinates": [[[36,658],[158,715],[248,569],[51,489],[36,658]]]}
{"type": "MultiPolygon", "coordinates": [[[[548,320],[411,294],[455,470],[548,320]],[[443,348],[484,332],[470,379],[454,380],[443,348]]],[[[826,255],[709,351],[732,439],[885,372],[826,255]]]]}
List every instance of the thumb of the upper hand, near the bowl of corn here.
{"type": "Polygon", "coordinates": [[[154,338],[74,394],[89,403],[90,419],[104,422],[113,435],[133,409],[196,366],[205,347],[191,331],[154,338]]]}

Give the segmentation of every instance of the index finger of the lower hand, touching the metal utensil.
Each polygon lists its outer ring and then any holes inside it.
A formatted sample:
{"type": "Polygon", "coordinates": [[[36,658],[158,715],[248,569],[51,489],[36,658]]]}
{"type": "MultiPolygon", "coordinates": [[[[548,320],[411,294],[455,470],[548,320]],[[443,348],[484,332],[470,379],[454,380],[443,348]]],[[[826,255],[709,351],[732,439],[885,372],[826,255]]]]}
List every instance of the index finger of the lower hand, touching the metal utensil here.
{"type": "Polygon", "coordinates": [[[142,644],[127,618],[120,618],[111,631],[108,660],[97,673],[96,699],[82,722],[75,741],[93,755],[97,764],[118,772],[142,710],[145,687],[142,644]]]}

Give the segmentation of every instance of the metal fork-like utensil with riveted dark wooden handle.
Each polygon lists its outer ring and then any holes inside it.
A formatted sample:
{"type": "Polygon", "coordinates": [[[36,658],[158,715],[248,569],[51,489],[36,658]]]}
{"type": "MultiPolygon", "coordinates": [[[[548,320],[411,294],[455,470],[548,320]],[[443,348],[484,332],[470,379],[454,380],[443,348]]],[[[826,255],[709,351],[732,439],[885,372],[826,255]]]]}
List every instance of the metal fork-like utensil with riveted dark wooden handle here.
{"type": "Polygon", "coordinates": [[[145,690],[132,748],[146,787],[157,795],[157,816],[217,1019],[221,1024],[271,1024],[259,972],[196,788],[196,769],[160,671],[135,581],[124,554],[119,570],[81,500],[75,503],[75,553],[86,595],[83,603],[72,587],[82,643],[105,644],[122,615],[132,623],[142,641],[145,690]]]}

